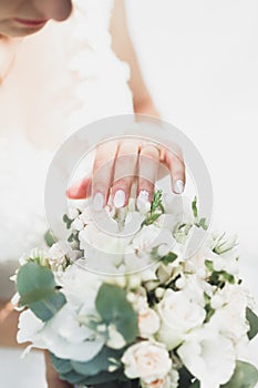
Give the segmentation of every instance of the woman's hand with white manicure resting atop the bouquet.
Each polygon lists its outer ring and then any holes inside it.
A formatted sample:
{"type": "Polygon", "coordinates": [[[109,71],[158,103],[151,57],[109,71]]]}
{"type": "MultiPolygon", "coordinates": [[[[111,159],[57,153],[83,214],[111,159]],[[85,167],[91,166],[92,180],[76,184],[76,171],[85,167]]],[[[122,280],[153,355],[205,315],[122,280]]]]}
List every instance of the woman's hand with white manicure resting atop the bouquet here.
{"type": "Polygon", "coordinates": [[[182,194],[185,186],[185,164],[178,147],[174,152],[154,143],[124,140],[111,141],[96,149],[92,175],[68,190],[69,198],[92,196],[93,206],[101,211],[109,197],[115,207],[127,204],[133,182],[136,196],[152,201],[157,180],[158,165],[166,166],[171,175],[172,190],[182,194]]]}

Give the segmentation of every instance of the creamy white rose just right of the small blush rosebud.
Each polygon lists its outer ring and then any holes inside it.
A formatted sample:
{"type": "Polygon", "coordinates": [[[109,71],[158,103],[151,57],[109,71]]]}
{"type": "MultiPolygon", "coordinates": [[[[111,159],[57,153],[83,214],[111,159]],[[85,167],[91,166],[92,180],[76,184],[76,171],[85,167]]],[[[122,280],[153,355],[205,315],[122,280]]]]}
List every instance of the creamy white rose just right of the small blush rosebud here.
{"type": "Polygon", "coordinates": [[[161,317],[157,338],[166,345],[168,350],[178,346],[185,335],[200,326],[206,317],[204,307],[184,290],[167,289],[157,304],[157,312],[161,317]]]}

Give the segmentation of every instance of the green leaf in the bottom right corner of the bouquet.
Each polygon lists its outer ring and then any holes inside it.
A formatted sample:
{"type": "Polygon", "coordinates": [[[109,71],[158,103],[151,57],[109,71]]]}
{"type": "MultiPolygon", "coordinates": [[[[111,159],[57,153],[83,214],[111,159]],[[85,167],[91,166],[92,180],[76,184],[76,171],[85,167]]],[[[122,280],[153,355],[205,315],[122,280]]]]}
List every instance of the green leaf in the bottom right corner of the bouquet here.
{"type": "Polygon", "coordinates": [[[221,388],[255,388],[258,382],[258,370],[249,363],[237,361],[234,375],[221,388]]]}

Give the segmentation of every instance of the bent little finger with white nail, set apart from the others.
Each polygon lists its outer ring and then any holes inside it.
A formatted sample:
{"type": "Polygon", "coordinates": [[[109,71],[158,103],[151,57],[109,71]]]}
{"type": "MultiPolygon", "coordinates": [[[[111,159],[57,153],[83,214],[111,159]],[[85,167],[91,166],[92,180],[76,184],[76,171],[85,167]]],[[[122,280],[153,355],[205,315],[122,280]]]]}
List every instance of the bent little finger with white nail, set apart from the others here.
{"type": "Polygon", "coordinates": [[[185,188],[185,163],[179,153],[166,151],[164,163],[171,172],[172,188],[175,194],[182,194],[185,188]]]}

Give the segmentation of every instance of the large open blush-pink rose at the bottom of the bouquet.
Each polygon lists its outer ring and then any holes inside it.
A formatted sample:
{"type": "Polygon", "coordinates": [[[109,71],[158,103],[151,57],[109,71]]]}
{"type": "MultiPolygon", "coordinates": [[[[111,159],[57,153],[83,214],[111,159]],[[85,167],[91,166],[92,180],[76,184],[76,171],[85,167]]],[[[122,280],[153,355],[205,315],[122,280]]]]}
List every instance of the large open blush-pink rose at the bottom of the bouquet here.
{"type": "Polygon", "coordinates": [[[141,341],[131,346],[122,357],[125,375],[146,384],[163,379],[172,368],[168,351],[162,344],[141,341]]]}

